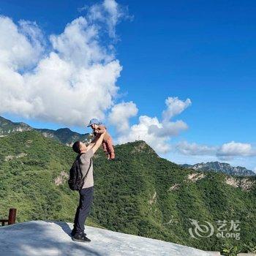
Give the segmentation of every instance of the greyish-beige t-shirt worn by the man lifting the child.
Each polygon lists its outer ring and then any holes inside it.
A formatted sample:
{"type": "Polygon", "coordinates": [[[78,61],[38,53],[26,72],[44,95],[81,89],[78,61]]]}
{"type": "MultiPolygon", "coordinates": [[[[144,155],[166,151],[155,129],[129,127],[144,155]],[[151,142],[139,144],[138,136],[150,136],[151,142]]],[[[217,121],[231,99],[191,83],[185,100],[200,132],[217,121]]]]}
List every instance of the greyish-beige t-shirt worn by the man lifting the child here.
{"type": "Polygon", "coordinates": [[[89,166],[90,166],[90,161],[91,161],[91,167],[86,176],[86,179],[84,181],[82,189],[84,189],[86,187],[94,186],[94,167],[93,167],[93,163],[92,163],[92,159],[91,159],[91,157],[93,157],[93,155],[94,155],[94,151],[92,151],[92,149],[90,149],[89,151],[87,151],[84,154],[81,154],[81,156],[80,156],[79,164],[80,164],[80,168],[83,173],[83,176],[86,175],[86,173],[89,169],[89,166]]]}

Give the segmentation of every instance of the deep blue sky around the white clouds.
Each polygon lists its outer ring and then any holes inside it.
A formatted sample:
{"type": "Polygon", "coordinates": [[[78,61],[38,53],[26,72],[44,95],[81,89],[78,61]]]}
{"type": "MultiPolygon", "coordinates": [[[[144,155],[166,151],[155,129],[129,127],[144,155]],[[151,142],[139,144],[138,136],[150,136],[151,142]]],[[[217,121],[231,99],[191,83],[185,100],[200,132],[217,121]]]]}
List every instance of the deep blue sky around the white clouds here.
{"type": "MultiPolygon", "coordinates": [[[[101,2],[3,0],[0,12],[14,23],[36,21],[48,38],[50,34],[63,33],[67,23],[75,18],[85,16],[83,7],[101,2]]],[[[172,121],[184,121],[187,129],[177,136],[170,133],[165,143],[173,148],[186,141],[219,147],[219,151],[223,151],[225,143],[241,143],[231,145],[235,149],[227,145],[233,153],[224,150],[222,159],[253,170],[256,167],[256,2],[117,2],[123,10],[128,8],[129,14],[126,12],[115,24],[115,59],[120,61],[122,70],[116,82],[118,96],[113,102],[135,103],[138,114],[129,118],[129,125],[138,124],[139,116],[160,120],[167,97],[178,97],[181,101],[189,98],[192,104],[172,117],[172,121]],[[243,146],[245,149],[240,150],[243,146]]],[[[104,43],[105,36],[101,41],[104,43]]],[[[105,113],[108,111],[110,108],[105,113]]],[[[1,115],[33,127],[68,126],[84,132],[83,127],[75,124],[7,112],[2,110],[1,115]]],[[[110,132],[118,138],[114,125],[110,124],[110,132]]],[[[190,149],[187,154],[171,150],[159,154],[174,162],[219,160],[215,153],[195,154],[190,149]]]]}

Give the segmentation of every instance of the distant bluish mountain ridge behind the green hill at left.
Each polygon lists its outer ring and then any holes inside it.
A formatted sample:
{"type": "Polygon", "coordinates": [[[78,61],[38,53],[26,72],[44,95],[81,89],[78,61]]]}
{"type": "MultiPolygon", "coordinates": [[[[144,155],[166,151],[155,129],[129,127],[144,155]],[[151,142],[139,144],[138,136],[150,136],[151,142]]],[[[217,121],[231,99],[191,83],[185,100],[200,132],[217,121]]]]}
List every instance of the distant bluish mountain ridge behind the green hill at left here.
{"type": "Polygon", "coordinates": [[[23,132],[23,131],[31,131],[31,130],[40,132],[42,133],[43,136],[47,138],[53,138],[66,145],[72,145],[72,143],[74,143],[76,140],[81,140],[81,141],[87,140],[89,137],[89,133],[82,135],[78,132],[72,132],[72,130],[69,128],[61,128],[57,130],[36,129],[36,128],[30,127],[28,124],[15,123],[0,116],[0,137],[10,135],[13,132],[23,132]]]}

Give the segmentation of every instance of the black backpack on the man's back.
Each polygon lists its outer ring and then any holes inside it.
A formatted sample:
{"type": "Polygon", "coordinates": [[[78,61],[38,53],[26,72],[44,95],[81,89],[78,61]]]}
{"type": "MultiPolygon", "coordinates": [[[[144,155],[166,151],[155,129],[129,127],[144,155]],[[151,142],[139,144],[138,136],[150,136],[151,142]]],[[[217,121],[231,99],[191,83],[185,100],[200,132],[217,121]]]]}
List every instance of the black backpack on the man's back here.
{"type": "MultiPolygon", "coordinates": [[[[84,154],[84,153],[83,153],[84,154]]],[[[71,169],[69,170],[69,180],[67,181],[69,184],[69,188],[72,190],[80,190],[83,187],[84,180],[86,179],[87,174],[91,168],[91,161],[89,168],[87,170],[86,175],[83,177],[82,170],[79,165],[79,158],[82,154],[78,155],[73,163],[71,169]]]]}

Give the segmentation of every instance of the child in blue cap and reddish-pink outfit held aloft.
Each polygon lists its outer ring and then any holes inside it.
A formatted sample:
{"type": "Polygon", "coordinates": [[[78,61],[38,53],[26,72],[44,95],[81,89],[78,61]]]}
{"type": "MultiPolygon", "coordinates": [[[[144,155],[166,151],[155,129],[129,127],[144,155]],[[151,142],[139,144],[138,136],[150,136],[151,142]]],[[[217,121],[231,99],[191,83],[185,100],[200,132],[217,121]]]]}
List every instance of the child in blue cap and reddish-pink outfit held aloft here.
{"type": "MultiPolygon", "coordinates": [[[[98,136],[102,134],[105,129],[107,129],[99,120],[93,118],[91,119],[89,125],[87,127],[91,127],[94,136],[98,136]]],[[[115,151],[113,148],[113,141],[108,132],[105,133],[105,136],[103,138],[102,142],[102,148],[105,152],[105,154],[108,155],[108,159],[113,160],[115,159],[115,151]]]]}

